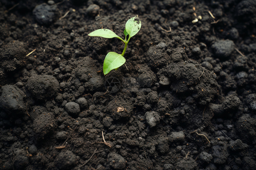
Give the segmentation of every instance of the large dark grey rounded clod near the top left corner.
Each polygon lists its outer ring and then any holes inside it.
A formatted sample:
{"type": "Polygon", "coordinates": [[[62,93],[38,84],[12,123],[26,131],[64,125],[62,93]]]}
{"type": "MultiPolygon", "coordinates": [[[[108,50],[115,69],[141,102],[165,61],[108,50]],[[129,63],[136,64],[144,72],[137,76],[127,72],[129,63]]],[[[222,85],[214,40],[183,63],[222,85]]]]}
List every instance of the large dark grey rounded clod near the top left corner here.
{"type": "Polygon", "coordinates": [[[57,6],[43,3],[35,7],[33,14],[38,23],[50,25],[57,18],[57,6]]]}

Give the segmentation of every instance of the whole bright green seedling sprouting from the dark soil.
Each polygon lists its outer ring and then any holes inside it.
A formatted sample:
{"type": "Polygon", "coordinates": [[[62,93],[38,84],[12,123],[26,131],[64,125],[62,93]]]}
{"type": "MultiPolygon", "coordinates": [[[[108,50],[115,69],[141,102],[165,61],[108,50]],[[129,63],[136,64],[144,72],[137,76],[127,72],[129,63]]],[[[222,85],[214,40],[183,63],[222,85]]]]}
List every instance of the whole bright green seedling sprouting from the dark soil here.
{"type": "Polygon", "coordinates": [[[118,38],[121,39],[124,42],[124,50],[122,54],[118,54],[115,52],[109,52],[107,53],[104,63],[103,63],[103,73],[104,75],[108,74],[113,69],[118,69],[120,66],[122,66],[125,63],[124,53],[127,48],[127,44],[132,36],[135,36],[141,29],[141,20],[138,18],[138,15],[136,15],[133,18],[130,18],[126,24],[124,29],[124,36],[125,40],[123,40],[120,36],[116,35],[113,31],[109,29],[97,29],[88,36],[101,36],[104,38],[118,38]],[[129,35],[127,39],[127,35],[129,35]]]}

